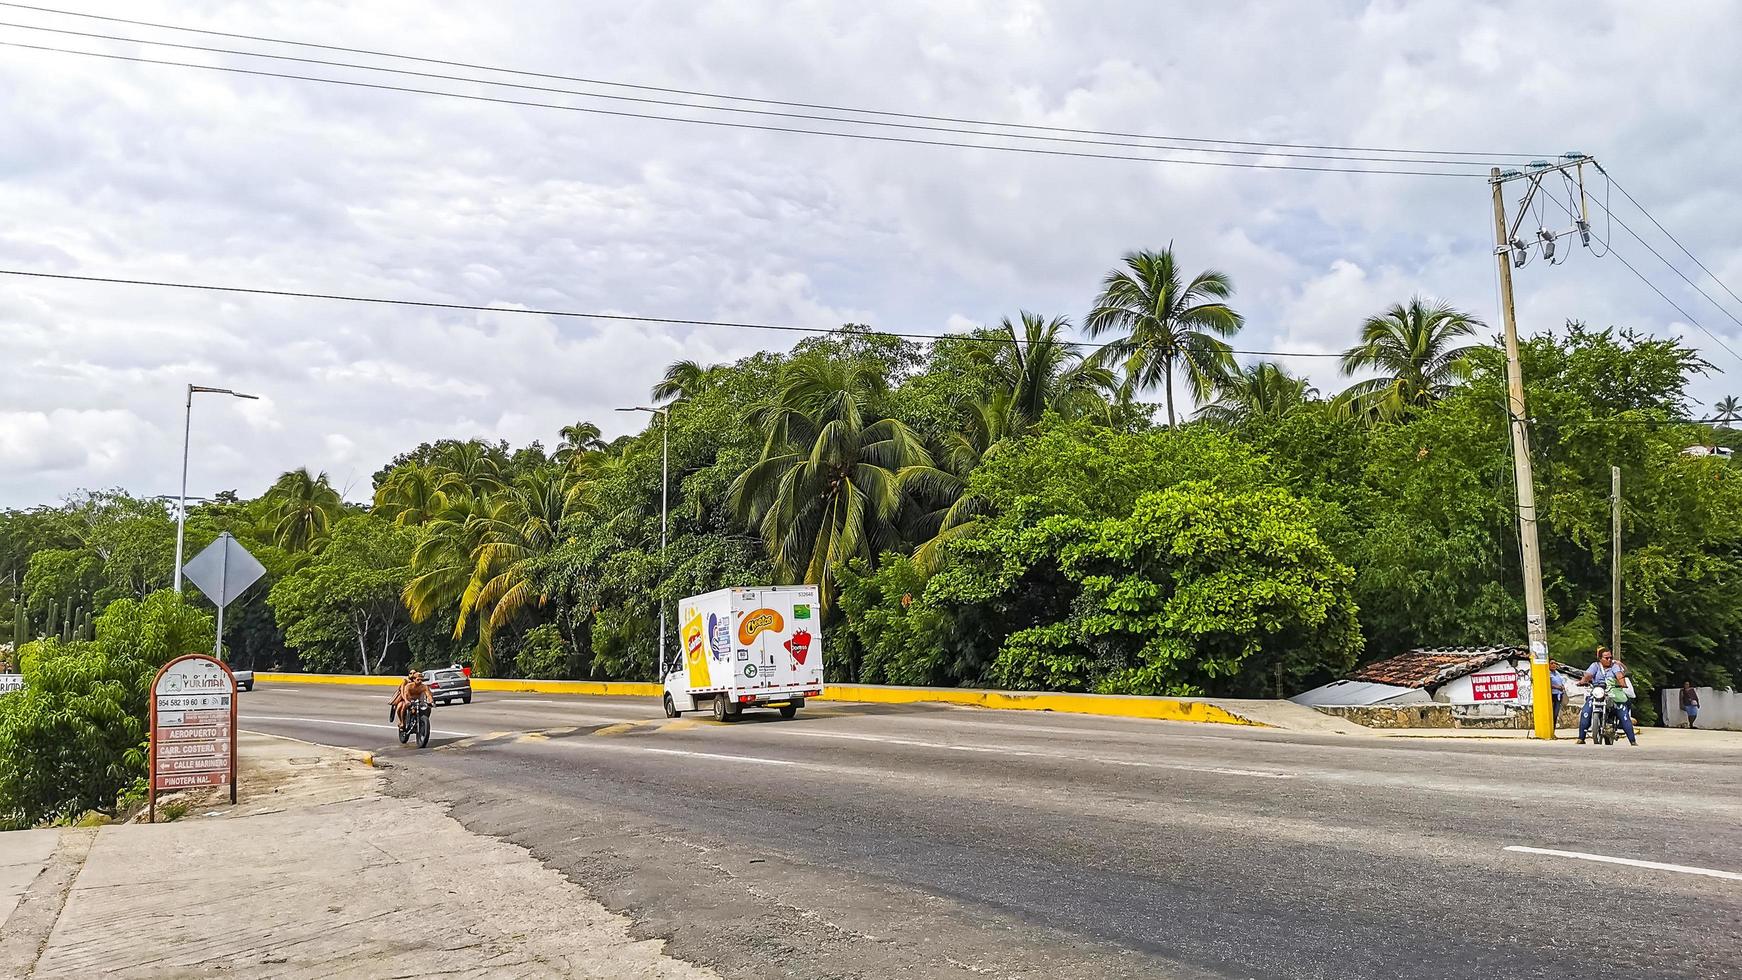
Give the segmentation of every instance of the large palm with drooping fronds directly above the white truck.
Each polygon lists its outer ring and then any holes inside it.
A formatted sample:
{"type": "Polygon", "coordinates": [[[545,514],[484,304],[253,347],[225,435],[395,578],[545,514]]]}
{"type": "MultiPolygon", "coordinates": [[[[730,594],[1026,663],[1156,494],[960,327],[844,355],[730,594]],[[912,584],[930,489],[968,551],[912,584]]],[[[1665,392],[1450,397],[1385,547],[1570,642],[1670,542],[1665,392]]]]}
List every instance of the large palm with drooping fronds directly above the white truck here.
{"type": "Polygon", "coordinates": [[[766,433],[761,460],[732,482],[732,508],[758,529],[775,571],[820,587],[824,606],[836,569],[854,557],[874,562],[897,541],[904,470],[932,465],[913,430],[871,414],[883,393],[868,362],[791,362],[780,392],[753,416],[766,433]]]}

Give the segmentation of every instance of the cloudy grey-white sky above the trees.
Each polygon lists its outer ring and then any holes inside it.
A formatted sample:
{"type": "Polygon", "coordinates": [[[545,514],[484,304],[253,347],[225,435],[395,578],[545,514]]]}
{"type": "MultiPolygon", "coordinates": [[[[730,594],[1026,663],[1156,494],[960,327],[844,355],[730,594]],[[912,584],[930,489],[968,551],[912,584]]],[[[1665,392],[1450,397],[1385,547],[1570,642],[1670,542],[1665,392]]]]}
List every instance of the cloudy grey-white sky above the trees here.
{"type": "MultiPolygon", "coordinates": [[[[1582,150],[1742,292],[1733,176],[1742,61],[1730,50],[1742,7],[1728,0],[1230,2],[1193,3],[1190,16],[1186,5],[1153,2],[1021,0],[40,2],[906,113],[1239,141],[1582,150]]],[[[481,75],[3,5],[0,21],[10,24],[0,42],[12,44],[371,78],[19,26],[33,24],[481,75]]],[[[373,80],[702,115],[470,82],[373,80]]],[[[1599,179],[1592,188],[1601,195],[1599,179]]],[[[1615,258],[1582,252],[1519,272],[1523,327],[1573,317],[1685,336],[1730,371],[1697,393],[1732,392],[1742,360],[1688,320],[1742,350],[1730,319],[1742,317],[1742,303],[1618,193],[1611,204],[1730,313],[1615,228],[1617,252],[1686,315],[1615,258]]],[[[1552,209],[1545,221],[1566,225],[1552,209]]],[[[1233,277],[1249,324],[1237,346],[1310,353],[1348,346],[1364,315],[1411,292],[1498,322],[1491,233],[1488,186],[1475,178],[871,143],[0,47],[7,270],[941,332],[1024,308],[1080,320],[1124,251],[1172,242],[1188,266],[1233,277]]],[[[611,409],[645,402],[667,362],[728,360],[791,339],[0,275],[0,507],[77,487],[172,493],[188,383],[260,395],[195,404],[190,493],[254,494],[279,472],[310,467],[361,500],[385,458],[422,440],[550,446],[575,420],[624,432],[639,420],[611,409]]],[[[1331,359],[1286,362],[1320,388],[1343,383],[1331,359]]]]}

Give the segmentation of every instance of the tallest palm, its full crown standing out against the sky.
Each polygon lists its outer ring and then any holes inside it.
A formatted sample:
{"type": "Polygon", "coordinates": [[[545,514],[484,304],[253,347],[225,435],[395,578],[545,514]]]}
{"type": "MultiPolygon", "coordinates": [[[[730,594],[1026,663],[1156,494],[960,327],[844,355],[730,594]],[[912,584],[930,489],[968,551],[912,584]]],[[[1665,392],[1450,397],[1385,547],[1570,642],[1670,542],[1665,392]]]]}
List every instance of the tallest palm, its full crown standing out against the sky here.
{"type": "Polygon", "coordinates": [[[1136,390],[1164,385],[1172,426],[1174,374],[1185,371],[1193,399],[1209,397],[1233,367],[1233,352],[1218,336],[1237,334],[1246,320],[1226,303],[1233,294],[1228,277],[1207,270],[1185,282],[1172,245],[1127,252],[1124,261],[1125,268],[1106,275],[1084,327],[1089,336],[1122,334],[1096,352],[1096,362],[1118,366],[1136,390]]]}

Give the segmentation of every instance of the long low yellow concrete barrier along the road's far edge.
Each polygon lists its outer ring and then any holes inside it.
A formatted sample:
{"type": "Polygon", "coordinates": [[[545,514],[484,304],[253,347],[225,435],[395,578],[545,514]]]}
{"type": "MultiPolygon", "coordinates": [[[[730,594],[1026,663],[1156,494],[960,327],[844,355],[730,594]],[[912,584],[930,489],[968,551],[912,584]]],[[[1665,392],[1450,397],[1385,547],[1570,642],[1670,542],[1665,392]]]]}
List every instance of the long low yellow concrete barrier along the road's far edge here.
{"type": "MultiPolygon", "coordinates": [[[[399,677],[359,677],[350,674],[254,674],[261,684],[378,684],[395,686],[399,677]]],[[[517,681],[474,677],[474,691],[523,695],[591,695],[596,698],[658,698],[664,688],[639,681],[517,681]]],[[[979,688],[895,688],[887,684],[826,684],[817,701],[862,701],[873,705],[970,705],[976,708],[1066,712],[1085,715],[1136,717],[1150,721],[1193,721],[1209,724],[1247,724],[1214,701],[1198,698],[1146,698],[1136,695],[1071,695],[1057,691],[986,691],[979,688]]]]}

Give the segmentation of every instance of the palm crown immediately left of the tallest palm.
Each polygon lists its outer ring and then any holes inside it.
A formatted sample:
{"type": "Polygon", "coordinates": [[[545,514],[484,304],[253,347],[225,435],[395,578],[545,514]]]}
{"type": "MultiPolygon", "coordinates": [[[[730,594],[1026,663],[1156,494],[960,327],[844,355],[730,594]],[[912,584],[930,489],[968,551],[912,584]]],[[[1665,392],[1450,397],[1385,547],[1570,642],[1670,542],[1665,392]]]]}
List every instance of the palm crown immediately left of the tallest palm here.
{"type": "Polygon", "coordinates": [[[1099,364],[1085,362],[1071,350],[1061,334],[1071,322],[1064,317],[1047,320],[1040,313],[1023,310],[1017,319],[1023,327],[1005,317],[993,336],[1002,343],[981,343],[972,348],[976,360],[984,364],[1005,399],[1012,420],[1026,428],[1040,421],[1047,411],[1064,416],[1087,414],[1106,406],[1103,392],[1115,386],[1113,373],[1099,364]]]}

